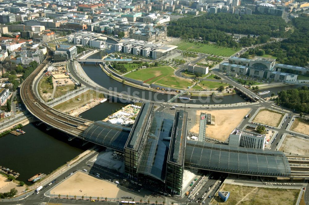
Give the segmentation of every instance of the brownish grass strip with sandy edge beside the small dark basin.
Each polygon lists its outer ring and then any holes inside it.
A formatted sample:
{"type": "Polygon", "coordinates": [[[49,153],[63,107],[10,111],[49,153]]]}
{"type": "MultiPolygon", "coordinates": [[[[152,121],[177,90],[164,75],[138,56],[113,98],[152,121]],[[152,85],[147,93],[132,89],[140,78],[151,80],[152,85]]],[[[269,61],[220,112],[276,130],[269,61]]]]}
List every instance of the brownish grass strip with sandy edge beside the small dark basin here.
{"type": "Polygon", "coordinates": [[[59,111],[65,111],[66,109],[68,109],[68,107],[70,107],[70,109],[72,108],[71,110],[74,110],[75,108],[80,107],[97,98],[104,98],[104,94],[97,93],[94,90],[88,90],[79,94],[78,96],[75,96],[74,98],[70,98],[67,101],[56,105],[53,108],[59,111]]]}

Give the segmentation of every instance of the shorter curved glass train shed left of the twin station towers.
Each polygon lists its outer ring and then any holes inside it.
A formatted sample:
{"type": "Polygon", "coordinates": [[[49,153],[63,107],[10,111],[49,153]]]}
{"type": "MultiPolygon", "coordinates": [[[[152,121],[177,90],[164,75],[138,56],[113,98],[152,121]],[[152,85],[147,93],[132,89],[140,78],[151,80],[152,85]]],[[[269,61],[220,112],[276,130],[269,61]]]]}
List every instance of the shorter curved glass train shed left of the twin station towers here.
{"type": "Polygon", "coordinates": [[[125,142],[130,132],[131,128],[108,122],[96,121],[83,132],[83,138],[95,144],[123,152],[125,142]]]}

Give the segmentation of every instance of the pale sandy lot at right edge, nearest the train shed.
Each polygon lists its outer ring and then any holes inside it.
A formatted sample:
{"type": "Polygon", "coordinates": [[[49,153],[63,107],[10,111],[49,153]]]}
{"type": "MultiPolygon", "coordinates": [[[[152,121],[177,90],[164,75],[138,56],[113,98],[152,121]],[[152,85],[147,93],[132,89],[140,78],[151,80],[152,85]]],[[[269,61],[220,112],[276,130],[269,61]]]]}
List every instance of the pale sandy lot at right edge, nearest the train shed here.
{"type": "Polygon", "coordinates": [[[279,150],[288,154],[309,155],[308,147],[308,140],[287,135],[279,150]]]}

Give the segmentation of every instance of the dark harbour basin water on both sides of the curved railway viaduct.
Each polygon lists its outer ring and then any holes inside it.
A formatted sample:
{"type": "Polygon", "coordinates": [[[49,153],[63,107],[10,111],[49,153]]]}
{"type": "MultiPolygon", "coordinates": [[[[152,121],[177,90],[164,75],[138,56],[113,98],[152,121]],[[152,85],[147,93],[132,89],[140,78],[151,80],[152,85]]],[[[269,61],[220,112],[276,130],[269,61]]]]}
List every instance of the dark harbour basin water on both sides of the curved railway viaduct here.
{"type": "MultiPolygon", "coordinates": [[[[102,120],[124,106],[106,101],[81,115],[94,121],[102,120]]],[[[26,132],[23,135],[7,134],[0,138],[0,165],[18,172],[17,180],[28,185],[32,184],[28,178],[40,172],[48,174],[93,146],[91,143],[82,146],[83,142],[78,138],[68,141],[65,133],[56,129],[47,131],[46,128],[45,124],[30,123],[22,128],[26,132]]]]}

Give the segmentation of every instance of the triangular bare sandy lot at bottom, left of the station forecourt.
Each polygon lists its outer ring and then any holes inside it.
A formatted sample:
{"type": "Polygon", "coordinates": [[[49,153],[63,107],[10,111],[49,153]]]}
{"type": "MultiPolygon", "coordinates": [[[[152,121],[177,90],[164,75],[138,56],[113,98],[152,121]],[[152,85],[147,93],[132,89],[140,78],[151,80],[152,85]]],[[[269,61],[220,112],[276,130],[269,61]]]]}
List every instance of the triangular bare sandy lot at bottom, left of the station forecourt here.
{"type": "Polygon", "coordinates": [[[50,193],[55,192],[55,196],[59,194],[66,196],[70,193],[71,197],[76,195],[79,198],[82,195],[86,197],[85,194],[87,194],[87,197],[91,196],[93,199],[96,199],[98,196],[101,197],[101,195],[102,198],[116,198],[119,191],[120,189],[114,183],[78,171],[50,190],[50,193]],[[79,190],[82,190],[82,192],[79,190]]]}

